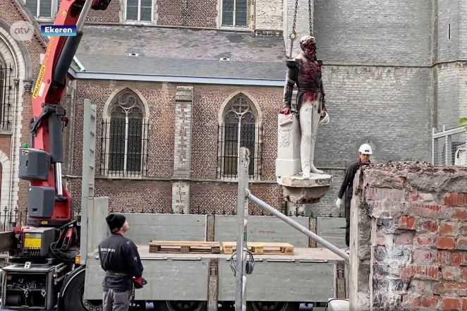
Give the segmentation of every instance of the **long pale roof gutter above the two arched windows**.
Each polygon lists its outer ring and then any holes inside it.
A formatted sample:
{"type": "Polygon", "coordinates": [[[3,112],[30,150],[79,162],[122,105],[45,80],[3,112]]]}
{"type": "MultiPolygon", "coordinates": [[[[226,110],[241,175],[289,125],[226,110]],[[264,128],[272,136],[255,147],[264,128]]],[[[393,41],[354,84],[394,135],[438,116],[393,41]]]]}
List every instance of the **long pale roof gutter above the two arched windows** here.
{"type": "MultiPolygon", "coordinates": [[[[71,68],[70,68],[71,69],[71,68]]],[[[266,79],[241,79],[241,78],[205,78],[205,77],[183,77],[177,75],[133,75],[123,73],[90,73],[68,71],[73,78],[91,80],[127,80],[145,82],[167,82],[167,83],[197,83],[217,85],[256,85],[284,87],[284,80],[266,79]]]]}

